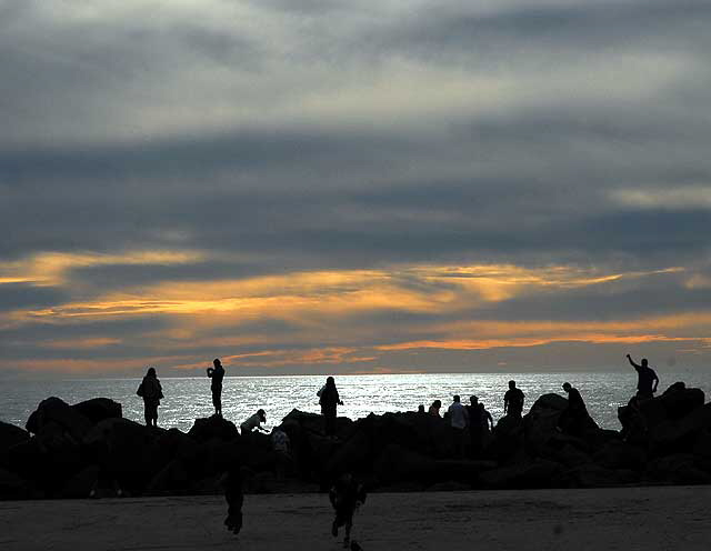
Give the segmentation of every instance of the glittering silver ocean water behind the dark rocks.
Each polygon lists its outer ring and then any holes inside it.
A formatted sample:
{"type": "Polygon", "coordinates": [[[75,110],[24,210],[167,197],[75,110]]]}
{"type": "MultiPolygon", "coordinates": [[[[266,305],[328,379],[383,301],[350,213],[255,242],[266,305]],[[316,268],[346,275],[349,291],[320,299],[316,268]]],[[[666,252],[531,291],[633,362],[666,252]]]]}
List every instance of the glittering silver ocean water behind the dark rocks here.
{"type": "MultiPolygon", "coordinates": [[[[675,381],[702,389],[707,395],[711,377],[702,371],[660,372],[659,391],[675,381]]],[[[159,373],[160,377],[160,373],[159,373]]],[[[341,400],[339,415],[358,419],[369,413],[414,411],[432,401],[442,401],[443,411],[453,394],[462,402],[477,394],[491,412],[494,421],[503,414],[503,394],[508,381],[514,379],[525,393],[524,413],[535,399],[548,392],[564,395],[561,384],[569,381],[580,390],[588,411],[605,429],[619,429],[617,409],[624,405],[635,391],[637,373],[428,373],[374,374],[336,377],[341,400]]],[[[267,427],[279,424],[293,408],[318,413],[317,391],[324,383],[323,375],[284,377],[226,377],[222,392],[223,415],[240,424],[262,408],[267,412],[267,427]]],[[[143,423],[143,402],[136,395],[140,379],[71,379],[71,380],[0,380],[0,420],[24,427],[38,403],[51,395],[68,403],[90,398],[111,398],[123,405],[123,417],[143,423]]],[[[207,377],[161,379],[166,398],[159,408],[158,424],[188,431],[197,418],[213,412],[210,380],[207,377]]]]}

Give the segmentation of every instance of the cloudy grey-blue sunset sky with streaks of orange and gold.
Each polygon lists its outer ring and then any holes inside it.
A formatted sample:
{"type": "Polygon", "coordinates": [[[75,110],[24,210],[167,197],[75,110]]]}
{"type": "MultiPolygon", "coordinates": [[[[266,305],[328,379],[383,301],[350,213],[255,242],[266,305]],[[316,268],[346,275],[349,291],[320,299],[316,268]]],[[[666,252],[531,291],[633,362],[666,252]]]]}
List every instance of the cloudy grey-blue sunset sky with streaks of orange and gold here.
{"type": "Polygon", "coordinates": [[[0,0],[0,378],[705,370],[710,26],[0,0]]]}

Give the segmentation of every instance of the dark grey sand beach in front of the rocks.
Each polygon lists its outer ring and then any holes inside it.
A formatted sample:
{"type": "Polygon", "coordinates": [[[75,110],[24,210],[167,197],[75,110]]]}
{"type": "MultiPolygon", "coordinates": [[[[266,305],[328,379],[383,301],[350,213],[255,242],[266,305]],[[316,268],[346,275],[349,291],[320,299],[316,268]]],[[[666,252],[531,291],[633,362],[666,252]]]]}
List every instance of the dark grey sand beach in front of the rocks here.
{"type": "MultiPolygon", "coordinates": [[[[373,493],[365,551],[711,549],[711,487],[373,493]]],[[[220,497],[0,502],[2,550],[337,550],[324,494],[247,495],[240,535],[220,497]]]]}

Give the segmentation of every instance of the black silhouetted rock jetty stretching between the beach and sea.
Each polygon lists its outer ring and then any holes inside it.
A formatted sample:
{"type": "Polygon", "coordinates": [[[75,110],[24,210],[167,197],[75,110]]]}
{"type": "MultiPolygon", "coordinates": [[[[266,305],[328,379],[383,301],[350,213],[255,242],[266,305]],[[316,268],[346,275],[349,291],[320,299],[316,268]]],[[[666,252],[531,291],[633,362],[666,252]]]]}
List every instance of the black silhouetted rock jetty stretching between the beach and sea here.
{"type": "Polygon", "coordinates": [[[499,420],[477,458],[457,457],[445,419],[417,412],[323,418],[293,410],[280,425],[291,454],[267,434],[240,435],[229,420],[197,419],[188,433],[122,418],[98,398],[43,400],[21,429],[0,422],[0,499],[204,494],[221,491],[238,462],[249,492],[318,491],[343,472],[372,490],[599,488],[711,483],[711,403],[675,383],[619,409],[622,431],[591,419],[558,429],[567,400],[544,394],[523,418],[499,420]]]}

